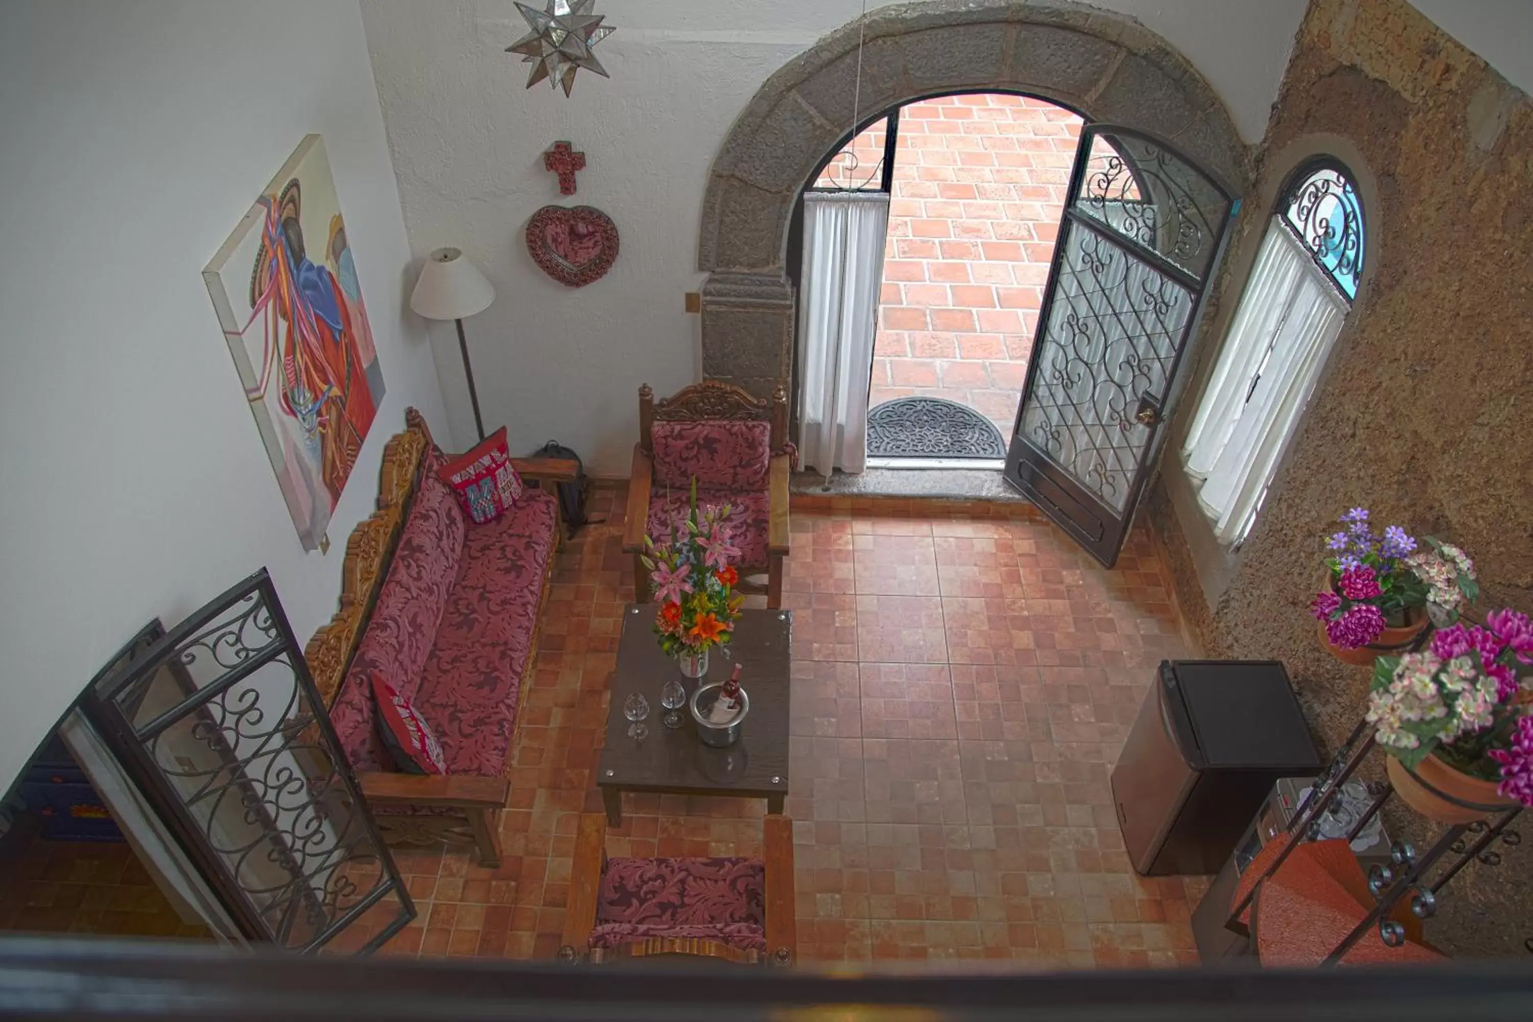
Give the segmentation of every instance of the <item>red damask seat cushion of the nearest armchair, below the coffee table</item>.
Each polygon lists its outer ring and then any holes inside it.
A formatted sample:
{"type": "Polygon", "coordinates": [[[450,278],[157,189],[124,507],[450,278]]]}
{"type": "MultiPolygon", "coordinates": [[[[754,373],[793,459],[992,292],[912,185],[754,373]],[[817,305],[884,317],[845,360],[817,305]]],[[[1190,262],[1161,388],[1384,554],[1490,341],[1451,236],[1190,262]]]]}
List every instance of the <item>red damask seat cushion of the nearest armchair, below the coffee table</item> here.
{"type": "Polygon", "coordinates": [[[747,858],[612,858],[590,947],[650,936],[705,938],[766,950],[766,872],[747,858]]]}

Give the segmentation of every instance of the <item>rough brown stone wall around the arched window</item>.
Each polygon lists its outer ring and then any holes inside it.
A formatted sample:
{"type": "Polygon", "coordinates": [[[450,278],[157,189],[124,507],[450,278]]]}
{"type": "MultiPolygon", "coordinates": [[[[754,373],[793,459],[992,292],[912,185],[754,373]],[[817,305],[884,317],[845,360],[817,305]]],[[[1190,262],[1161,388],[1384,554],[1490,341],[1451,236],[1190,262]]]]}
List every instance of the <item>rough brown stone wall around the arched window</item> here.
{"type": "MultiPolygon", "coordinates": [[[[1263,185],[1286,172],[1271,155],[1315,133],[1349,139],[1377,181],[1372,279],[1217,605],[1164,492],[1150,513],[1206,651],[1285,660],[1335,748],[1367,676],[1320,651],[1305,605],[1341,510],[1459,542],[1479,565],[1481,610],[1533,611],[1533,101],[1404,0],[1315,0],[1259,155],[1263,185]]],[[[1433,939],[1527,956],[1533,853],[1504,850],[1498,870],[1455,881],[1433,939]]]]}

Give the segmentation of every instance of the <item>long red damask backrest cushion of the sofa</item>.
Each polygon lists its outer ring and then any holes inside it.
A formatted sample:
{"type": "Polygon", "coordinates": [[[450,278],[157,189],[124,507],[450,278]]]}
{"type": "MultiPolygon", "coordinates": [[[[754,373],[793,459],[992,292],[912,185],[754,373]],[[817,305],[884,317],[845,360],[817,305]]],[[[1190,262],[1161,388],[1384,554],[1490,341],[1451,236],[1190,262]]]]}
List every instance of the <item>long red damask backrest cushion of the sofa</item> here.
{"type": "Polygon", "coordinates": [[[330,709],[340,746],[359,771],[391,769],[374,726],[373,674],[420,702],[422,671],[442,622],[458,564],[466,522],[452,489],[437,478],[440,455],[428,454],[388,576],[362,633],[340,694],[330,709]]]}

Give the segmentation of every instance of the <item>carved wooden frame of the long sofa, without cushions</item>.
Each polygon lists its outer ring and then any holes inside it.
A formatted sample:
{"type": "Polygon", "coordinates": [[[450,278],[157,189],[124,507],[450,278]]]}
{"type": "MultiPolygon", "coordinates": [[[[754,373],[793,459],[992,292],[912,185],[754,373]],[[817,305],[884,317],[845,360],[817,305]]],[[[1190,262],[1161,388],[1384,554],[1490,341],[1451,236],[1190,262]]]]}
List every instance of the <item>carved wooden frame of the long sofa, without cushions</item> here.
{"type": "MultiPolygon", "coordinates": [[[[420,484],[422,460],[432,443],[426,420],[414,408],[406,409],[405,432],[396,434],[383,449],[377,510],[359,522],[346,541],[346,556],[340,567],[340,608],[304,648],[310,673],[314,676],[314,685],[319,688],[327,709],[336,702],[346,670],[351,667],[351,657],[366,631],[379,590],[388,576],[400,532],[409,515],[411,501],[420,484]]],[[[573,483],[578,466],[573,461],[558,458],[512,458],[512,464],[527,483],[537,483],[555,496],[553,550],[543,576],[537,627],[527,650],[523,683],[518,690],[517,726],[509,746],[515,749],[521,732],[521,711],[530,688],[532,660],[537,656],[543,610],[547,605],[549,584],[558,561],[558,549],[563,544],[564,527],[558,515],[556,486],[573,483]]],[[[469,841],[478,847],[480,864],[500,864],[500,811],[504,809],[510,797],[510,781],[506,777],[360,771],[357,781],[362,785],[362,794],[368,804],[374,809],[431,811],[412,815],[379,814],[379,830],[389,844],[469,841]]]]}

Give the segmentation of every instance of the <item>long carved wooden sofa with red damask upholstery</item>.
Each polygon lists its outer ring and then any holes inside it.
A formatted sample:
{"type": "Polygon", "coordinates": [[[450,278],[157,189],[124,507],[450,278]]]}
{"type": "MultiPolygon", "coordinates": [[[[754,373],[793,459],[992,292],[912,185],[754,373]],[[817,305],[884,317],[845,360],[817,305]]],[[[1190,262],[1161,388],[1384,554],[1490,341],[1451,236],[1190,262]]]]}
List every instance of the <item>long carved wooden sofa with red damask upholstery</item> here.
{"type": "Polygon", "coordinates": [[[523,683],[563,533],[555,486],[576,464],[515,460],[527,492],[484,526],[463,516],[415,409],[383,450],[377,510],[346,542],[340,608],[305,648],[351,768],[389,843],[472,841],[500,863],[523,683]],[[541,486],[541,489],[535,489],[541,486]],[[380,671],[437,732],[448,774],[394,769],[377,734],[380,671]]]}

